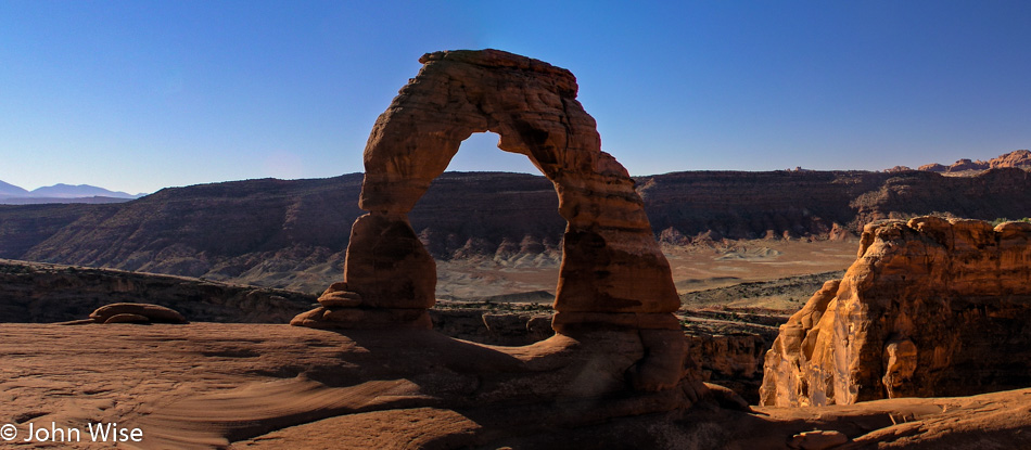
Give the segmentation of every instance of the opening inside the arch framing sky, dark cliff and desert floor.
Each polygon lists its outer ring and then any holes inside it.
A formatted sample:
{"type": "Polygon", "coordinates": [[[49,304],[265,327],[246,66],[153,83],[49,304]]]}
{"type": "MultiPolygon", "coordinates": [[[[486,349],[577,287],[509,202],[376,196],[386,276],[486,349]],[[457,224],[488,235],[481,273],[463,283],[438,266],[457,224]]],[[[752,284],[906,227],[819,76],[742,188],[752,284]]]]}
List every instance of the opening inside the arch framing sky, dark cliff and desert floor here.
{"type": "Polygon", "coordinates": [[[547,309],[540,307],[555,299],[567,221],[553,184],[526,156],[499,151],[499,139],[488,131],[462,141],[409,221],[436,263],[437,300],[547,309]],[[469,154],[476,156],[463,159],[469,154]],[[451,171],[468,168],[487,171],[451,171]]]}

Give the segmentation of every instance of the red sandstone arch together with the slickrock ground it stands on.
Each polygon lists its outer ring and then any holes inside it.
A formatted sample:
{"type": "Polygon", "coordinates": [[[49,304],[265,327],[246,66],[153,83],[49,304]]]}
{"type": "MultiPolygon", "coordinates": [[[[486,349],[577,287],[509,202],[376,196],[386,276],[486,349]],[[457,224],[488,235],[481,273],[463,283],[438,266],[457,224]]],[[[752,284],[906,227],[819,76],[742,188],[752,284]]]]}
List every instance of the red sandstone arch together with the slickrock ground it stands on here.
{"type": "Polygon", "coordinates": [[[572,74],[495,50],[421,61],[370,136],[344,280],[301,326],[0,324],[0,421],[117,422],[140,448],[1031,448],[1031,389],[752,410],[700,383],[669,265],[572,74]],[[540,168],[568,221],[556,334],[529,346],[428,330],[434,263],[406,215],[480,130],[540,168]]]}

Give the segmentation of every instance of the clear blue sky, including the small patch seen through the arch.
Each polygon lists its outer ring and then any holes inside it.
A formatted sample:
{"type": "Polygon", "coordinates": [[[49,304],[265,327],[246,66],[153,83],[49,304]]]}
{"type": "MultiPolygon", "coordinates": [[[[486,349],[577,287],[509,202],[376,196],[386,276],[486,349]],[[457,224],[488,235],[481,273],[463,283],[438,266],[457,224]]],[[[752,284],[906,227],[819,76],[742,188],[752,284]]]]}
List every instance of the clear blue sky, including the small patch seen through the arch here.
{"type": "MultiPolygon", "coordinates": [[[[571,69],[631,173],[1031,147],[1029,1],[0,0],[0,180],[128,192],[361,170],[422,53],[571,69]]],[[[533,170],[494,139],[453,170],[533,170]]]]}

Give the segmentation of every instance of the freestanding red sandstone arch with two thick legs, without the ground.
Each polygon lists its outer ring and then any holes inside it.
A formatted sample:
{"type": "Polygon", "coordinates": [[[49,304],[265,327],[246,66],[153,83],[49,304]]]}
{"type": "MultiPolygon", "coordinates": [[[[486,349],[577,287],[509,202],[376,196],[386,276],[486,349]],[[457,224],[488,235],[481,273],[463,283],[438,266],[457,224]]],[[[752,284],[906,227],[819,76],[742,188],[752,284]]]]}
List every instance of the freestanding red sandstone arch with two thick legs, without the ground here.
{"type": "Polygon", "coordinates": [[[678,330],[669,262],[634,181],[601,151],[575,77],[497,50],[429,53],[420,62],[369,137],[359,206],[370,213],[352,230],[345,281],[320,297],[323,308],[292,323],[429,327],[435,265],[407,214],[464,139],[493,131],[499,149],[526,155],[552,181],[568,221],[555,330],[678,330]]]}

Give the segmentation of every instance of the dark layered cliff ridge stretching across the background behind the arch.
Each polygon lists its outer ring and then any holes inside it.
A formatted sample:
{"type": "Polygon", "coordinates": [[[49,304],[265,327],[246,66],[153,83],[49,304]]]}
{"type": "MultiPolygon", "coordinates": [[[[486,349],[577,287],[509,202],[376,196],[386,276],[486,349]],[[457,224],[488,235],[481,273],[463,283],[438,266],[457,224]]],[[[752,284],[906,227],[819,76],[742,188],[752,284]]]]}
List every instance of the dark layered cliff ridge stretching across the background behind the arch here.
{"type": "MultiPolygon", "coordinates": [[[[1031,175],[921,171],[675,172],[635,178],[665,244],[825,236],[931,213],[992,220],[1031,210],[1031,175]],[[838,224],[838,227],[836,227],[838,224]]],[[[117,205],[0,205],[0,258],[320,292],[343,271],[361,175],[166,189],[117,205]]],[[[409,213],[438,260],[558,266],[553,185],[521,173],[444,173],[409,213]]]]}

